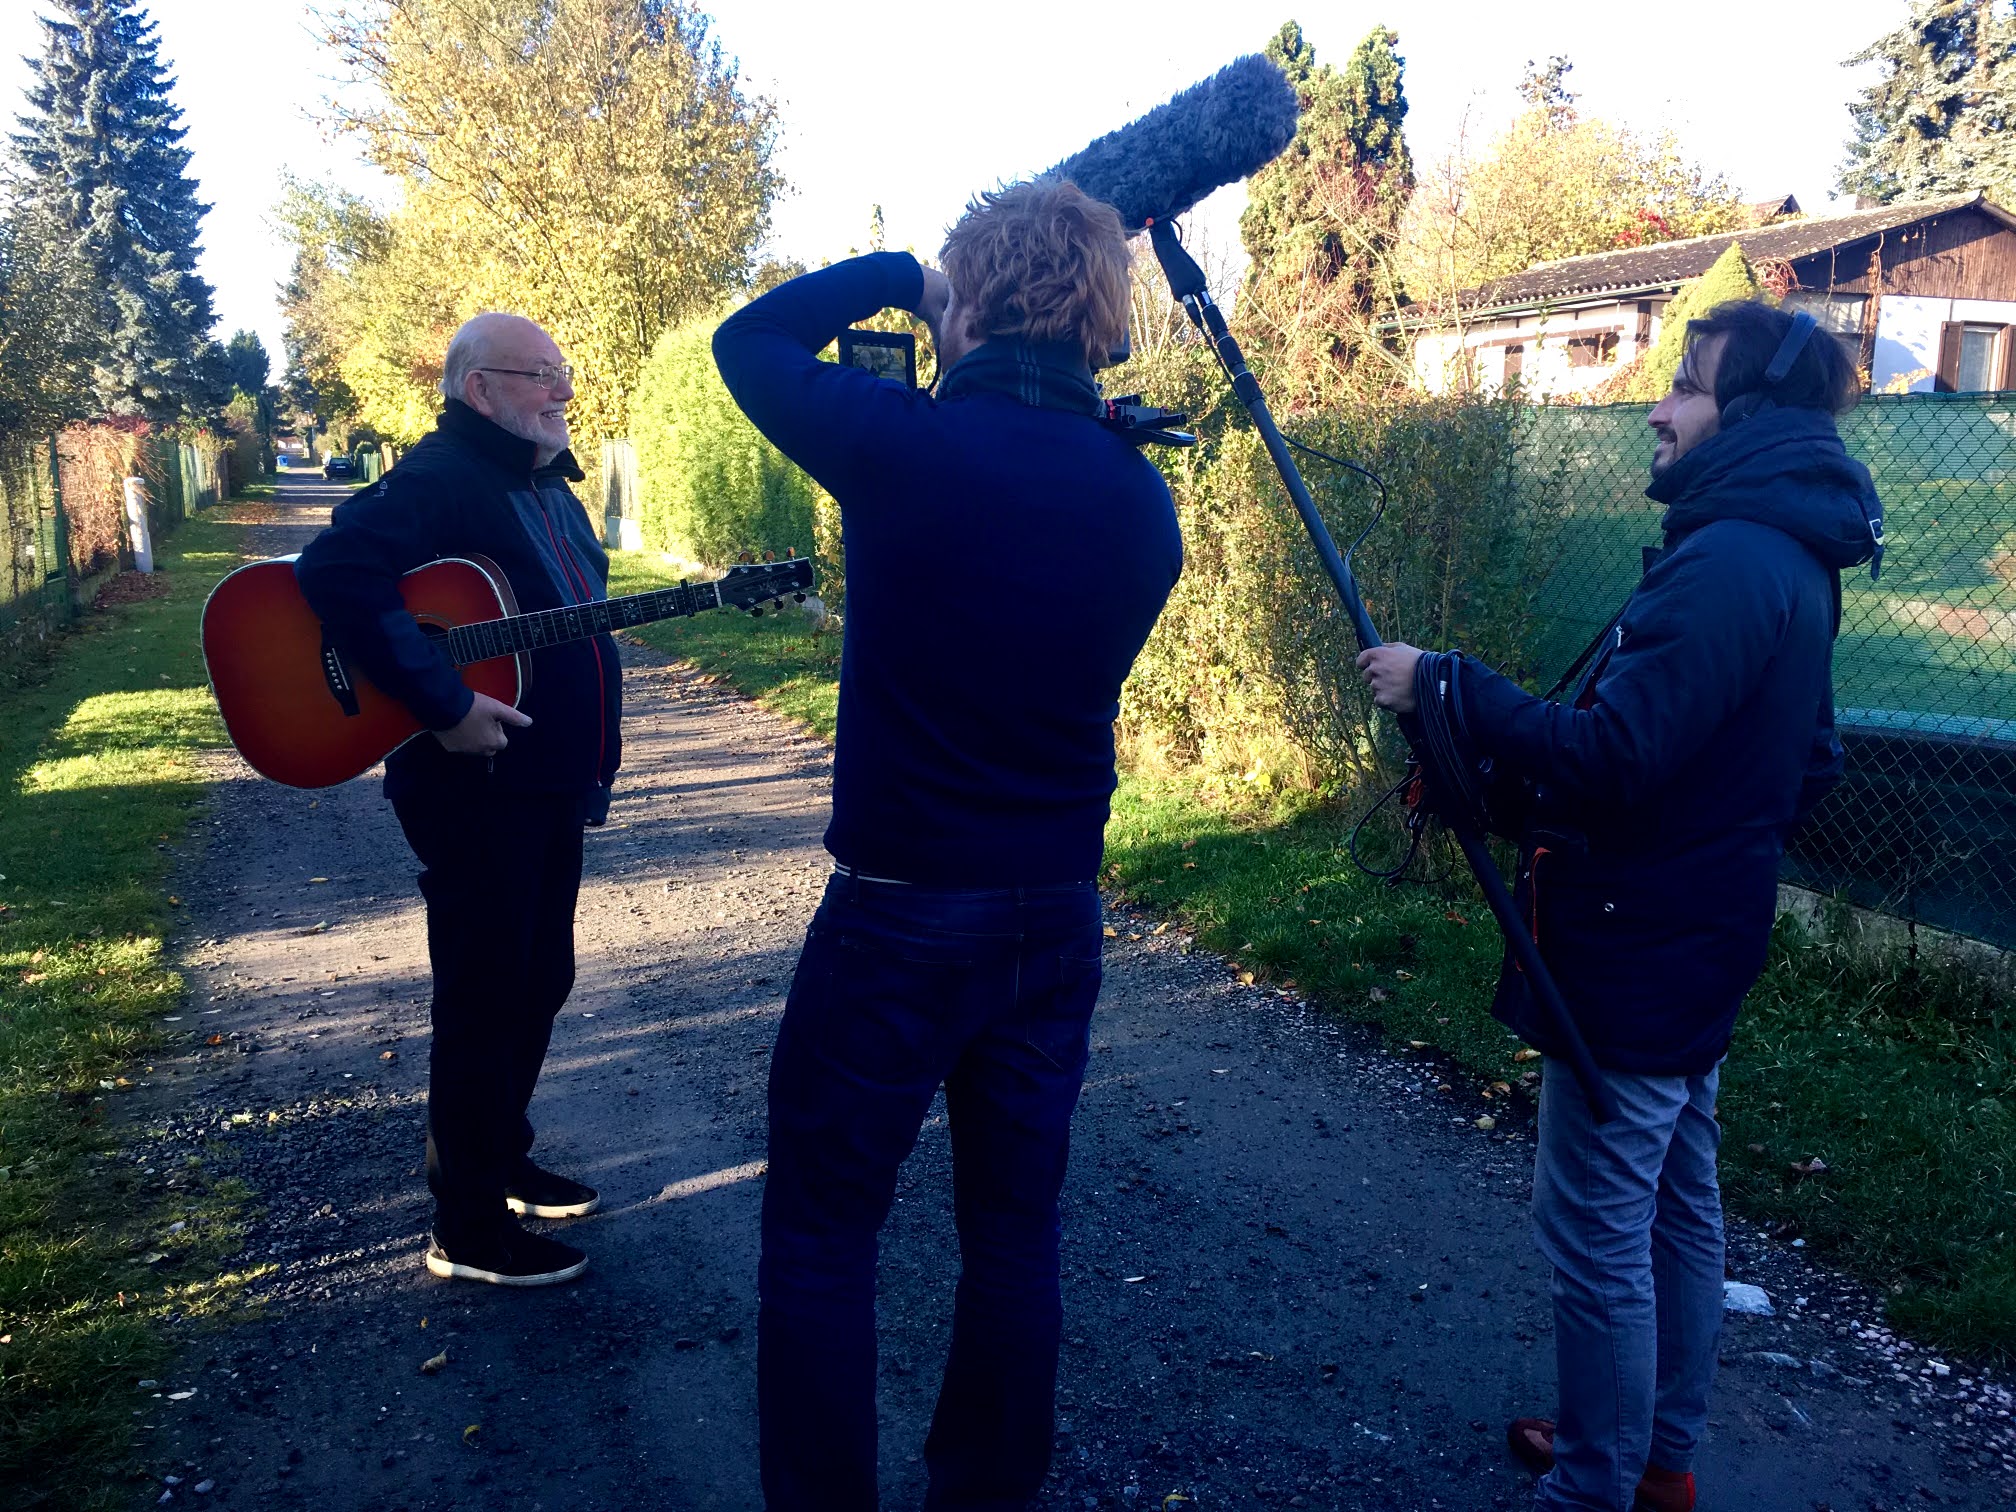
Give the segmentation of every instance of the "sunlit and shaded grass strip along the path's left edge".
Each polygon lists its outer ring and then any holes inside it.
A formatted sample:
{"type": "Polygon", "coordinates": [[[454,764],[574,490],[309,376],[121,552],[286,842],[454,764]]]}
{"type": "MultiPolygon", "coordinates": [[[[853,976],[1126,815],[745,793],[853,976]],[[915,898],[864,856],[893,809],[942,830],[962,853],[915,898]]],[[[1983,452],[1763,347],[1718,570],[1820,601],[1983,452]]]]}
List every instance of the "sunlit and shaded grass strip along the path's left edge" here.
{"type": "Polygon", "coordinates": [[[89,615],[0,694],[0,1500],[113,1506],[133,1383],[163,1369],[163,1320],[216,1310],[236,1278],[242,1193],[200,1169],[115,1159],[119,1099],[145,1083],[181,978],[167,847],[222,740],[196,625],[242,558],[183,524],[167,595],[89,615]],[[175,1222],[183,1230],[169,1236],[175,1222]],[[149,1258],[159,1256],[149,1264],[149,1258]]]}

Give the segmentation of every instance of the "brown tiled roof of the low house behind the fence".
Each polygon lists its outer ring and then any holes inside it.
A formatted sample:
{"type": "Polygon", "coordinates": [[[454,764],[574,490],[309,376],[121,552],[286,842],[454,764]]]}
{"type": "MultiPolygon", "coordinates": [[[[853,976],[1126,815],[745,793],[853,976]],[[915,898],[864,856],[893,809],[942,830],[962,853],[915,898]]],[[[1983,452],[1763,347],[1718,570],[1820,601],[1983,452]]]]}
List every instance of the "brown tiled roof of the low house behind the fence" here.
{"type": "Polygon", "coordinates": [[[1536,262],[1526,272],[1472,288],[1458,298],[1472,310],[1516,310],[1564,298],[1587,298],[1591,294],[1635,294],[1675,288],[1687,278],[1699,278],[1708,272],[1732,242],[1742,242],[1744,256],[1752,262],[1796,262],[1837,246],[1847,246],[1849,242],[1861,242],[1879,232],[1915,226],[1921,220],[1947,216],[1966,208],[1984,210],[2004,226],[2016,228],[2016,216],[1992,204],[1986,196],[1954,194],[1941,200],[1915,200],[1911,204],[1857,210],[1847,216],[1812,216],[1776,226],[1752,226],[1740,232],[1716,232],[1714,236],[1689,236],[1679,242],[1633,246],[1621,252],[1593,252],[1581,258],[1536,262]]]}

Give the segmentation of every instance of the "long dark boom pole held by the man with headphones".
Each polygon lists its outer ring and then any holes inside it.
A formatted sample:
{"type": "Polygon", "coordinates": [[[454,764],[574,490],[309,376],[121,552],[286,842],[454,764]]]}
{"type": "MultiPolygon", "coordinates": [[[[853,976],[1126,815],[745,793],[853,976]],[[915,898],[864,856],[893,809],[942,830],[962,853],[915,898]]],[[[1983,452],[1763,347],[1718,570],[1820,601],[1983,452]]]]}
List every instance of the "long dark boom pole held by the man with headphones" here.
{"type": "MultiPolygon", "coordinates": [[[[1220,312],[1210,286],[1204,282],[1204,270],[1177,240],[1175,224],[1171,220],[1153,222],[1149,226],[1149,242],[1155,246],[1155,260],[1161,262],[1161,270],[1169,280],[1169,292],[1183,306],[1191,325],[1195,325],[1198,331],[1204,333],[1204,339],[1212,343],[1212,349],[1218,353],[1218,361],[1224,363],[1226,373],[1232,377],[1232,393],[1238,395],[1238,401],[1246,405],[1246,413],[1252,415],[1254,429],[1260,431],[1266,454],[1274,460],[1274,470],[1280,474],[1280,480],[1288,490],[1288,500],[1294,504],[1294,512],[1302,518],[1302,528],[1308,530],[1308,540],[1316,548],[1316,558],[1322,562],[1322,571],[1329,573],[1331,585],[1337,589],[1337,597],[1343,601],[1345,613],[1351,617],[1351,629],[1359,637],[1359,647],[1369,651],[1375,645],[1383,645],[1379,631],[1373,627],[1371,615],[1365,613],[1365,599],[1359,597],[1357,579],[1351,577],[1351,569],[1337,552],[1337,542],[1331,540],[1331,530],[1322,524],[1322,516],[1316,512],[1316,502],[1308,496],[1308,484],[1302,482],[1302,472],[1294,466],[1294,458],[1288,454],[1288,442],[1282,437],[1280,425],[1274,423],[1274,415],[1266,405],[1266,395],[1260,393],[1260,381],[1246,367],[1246,355],[1226,329],[1226,317],[1220,312]]],[[[1512,948],[1512,960],[1518,962],[1520,972],[1526,976],[1526,986],[1540,1002],[1540,1012],[1546,1014],[1556,1040],[1566,1048],[1568,1066],[1574,1070],[1574,1081],[1583,1089],[1591,1115],[1597,1123],[1609,1123],[1617,1117],[1617,1101],[1611,1097],[1611,1089],[1603,1081],[1603,1073],[1597,1070],[1597,1060],[1589,1054],[1589,1042],[1577,1028],[1574,1016],[1568,1012],[1568,1004],[1562,1000],[1560,988],[1554,984],[1554,976],[1546,970],[1546,962],[1540,958],[1538,941],[1534,941],[1534,937],[1526,931],[1526,925],[1518,915],[1518,905],[1512,901],[1510,889],[1506,889],[1506,879],[1498,871],[1498,863],[1492,861],[1490,851],[1484,847],[1484,837],[1478,833],[1478,827],[1472,823],[1468,812],[1464,812],[1458,804],[1435,802],[1435,786],[1447,778],[1435,770],[1433,756],[1421,742],[1419,722],[1411,716],[1401,716],[1399,732],[1405,736],[1407,748],[1421,764],[1427,802],[1450,827],[1450,833],[1456,835],[1456,843],[1464,851],[1464,861],[1470,863],[1470,871],[1476,875],[1478,887],[1484,889],[1484,901],[1490,905],[1492,917],[1498,919],[1498,929],[1512,948]]]]}

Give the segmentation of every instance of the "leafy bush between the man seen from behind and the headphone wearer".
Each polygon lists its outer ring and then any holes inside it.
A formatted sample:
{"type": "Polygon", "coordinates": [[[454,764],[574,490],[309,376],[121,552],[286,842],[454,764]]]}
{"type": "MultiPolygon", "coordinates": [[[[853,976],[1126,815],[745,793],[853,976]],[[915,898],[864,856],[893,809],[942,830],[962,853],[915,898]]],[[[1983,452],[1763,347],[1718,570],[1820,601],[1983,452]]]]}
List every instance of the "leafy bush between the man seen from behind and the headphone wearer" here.
{"type": "MultiPolygon", "coordinates": [[[[1450,395],[1333,405],[1286,427],[1385,478],[1385,516],[1355,556],[1381,633],[1460,645],[1512,675],[1534,669],[1526,629],[1554,542],[1546,476],[1514,486],[1520,413],[1514,401],[1450,395]]],[[[1127,683],[1129,758],[1262,788],[1375,786],[1391,752],[1375,738],[1383,716],[1353,667],[1351,623],[1258,435],[1206,419],[1216,429],[1206,444],[1157,458],[1177,500],[1185,566],[1127,683]]],[[[1347,546],[1377,492],[1308,456],[1302,472],[1347,546]]]]}

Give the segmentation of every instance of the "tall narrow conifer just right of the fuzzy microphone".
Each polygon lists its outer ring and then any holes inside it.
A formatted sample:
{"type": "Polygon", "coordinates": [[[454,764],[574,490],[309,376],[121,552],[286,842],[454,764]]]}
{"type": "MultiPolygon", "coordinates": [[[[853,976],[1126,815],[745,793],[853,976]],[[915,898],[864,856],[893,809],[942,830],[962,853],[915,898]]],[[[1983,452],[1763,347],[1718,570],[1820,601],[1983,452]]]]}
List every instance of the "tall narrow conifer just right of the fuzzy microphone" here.
{"type": "Polygon", "coordinates": [[[1387,254],[1413,194],[1413,157],[1397,44],[1395,32],[1375,26],[1335,69],[1316,62],[1290,20],[1266,46],[1294,85],[1302,119],[1288,149],[1248,185],[1240,216],[1252,258],[1248,306],[1262,345],[1310,393],[1377,347],[1375,308],[1399,300],[1387,254]]]}

